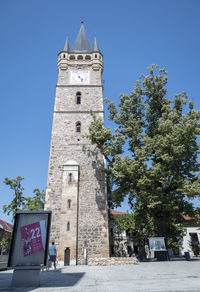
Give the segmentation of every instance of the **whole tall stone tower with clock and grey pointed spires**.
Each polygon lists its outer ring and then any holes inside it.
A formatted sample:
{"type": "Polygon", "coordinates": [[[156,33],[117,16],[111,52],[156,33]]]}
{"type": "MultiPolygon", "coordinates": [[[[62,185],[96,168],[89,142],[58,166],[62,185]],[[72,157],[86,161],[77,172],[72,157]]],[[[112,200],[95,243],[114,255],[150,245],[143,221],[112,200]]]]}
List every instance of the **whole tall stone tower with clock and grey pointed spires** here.
{"type": "Polygon", "coordinates": [[[83,137],[90,110],[104,118],[103,55],[96,38],[90,47],[83,23],[70,50],[66,39],[58,54],[58,82],[45,209],[52,210],[51,240],[59,260],[70,249],[71,262],[108,257],[108,211],[104,157],[83,137]]]}

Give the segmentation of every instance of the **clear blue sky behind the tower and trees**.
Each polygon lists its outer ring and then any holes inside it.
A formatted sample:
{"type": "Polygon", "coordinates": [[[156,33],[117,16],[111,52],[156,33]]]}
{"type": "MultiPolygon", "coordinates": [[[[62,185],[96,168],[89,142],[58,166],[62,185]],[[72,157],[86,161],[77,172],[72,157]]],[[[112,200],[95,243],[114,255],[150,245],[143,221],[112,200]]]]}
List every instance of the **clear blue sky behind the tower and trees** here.
{"type": "Polygon", "coordinates": [[[199,15],[199,0],[0,0],[1,219],[10,222],[5,177],[23,176],[27,196],[46,187],[57,54],[66,35],[72,47],[81,17],[104,54],[104,97],[117,102],[158,64],[169,72],[169,97],[185,90],[199,109],[199,15]]]}

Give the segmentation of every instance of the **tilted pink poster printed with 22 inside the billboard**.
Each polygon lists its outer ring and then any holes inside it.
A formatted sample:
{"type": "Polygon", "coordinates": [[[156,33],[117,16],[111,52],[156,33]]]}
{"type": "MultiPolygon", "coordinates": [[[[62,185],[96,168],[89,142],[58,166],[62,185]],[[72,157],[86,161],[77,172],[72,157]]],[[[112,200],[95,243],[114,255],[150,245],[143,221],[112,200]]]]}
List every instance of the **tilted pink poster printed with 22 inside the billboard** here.
{"type": "Polygon", "coordinates": [[[44,250],[44,221],[22,226],[20,231],[25,257],[44,250]]]}

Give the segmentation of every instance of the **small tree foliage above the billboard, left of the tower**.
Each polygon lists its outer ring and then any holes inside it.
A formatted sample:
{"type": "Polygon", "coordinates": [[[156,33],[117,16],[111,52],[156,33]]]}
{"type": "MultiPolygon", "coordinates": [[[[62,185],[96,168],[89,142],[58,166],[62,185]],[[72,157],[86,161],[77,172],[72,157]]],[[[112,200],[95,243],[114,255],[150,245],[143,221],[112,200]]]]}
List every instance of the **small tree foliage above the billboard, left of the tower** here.
{"type": "Polygon", "coordinates": [[[24,188],[21,184],[23,179],[23,177],[17,176],[14,179],[5,178],[4,180],[4,183],[8,185],[14,193],[13,200],[10,204],[3,206],[3,211],[7,215],[11,214],[13,219],[17,211],[40,211],[44,209],[45,191],[34,189],[33,196],[24,197],[24,188]]]}

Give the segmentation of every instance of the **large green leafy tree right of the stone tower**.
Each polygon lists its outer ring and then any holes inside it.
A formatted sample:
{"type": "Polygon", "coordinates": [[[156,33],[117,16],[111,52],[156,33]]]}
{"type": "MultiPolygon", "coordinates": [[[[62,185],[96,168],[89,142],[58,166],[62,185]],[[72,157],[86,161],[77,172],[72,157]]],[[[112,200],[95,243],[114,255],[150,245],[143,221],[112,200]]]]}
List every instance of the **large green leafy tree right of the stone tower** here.
{"type": "Polygon", "coordinates": [[[130,96],[120,95],[118,108],[106,100],[115,130],[93,115],[88,137],[107,160],[111,207],[128,196],[137,232],[145,228],[146,236],[170,244],[183,230],[183,214],[195,215],[188,199],[200,194],[200,112],[185,92],[166,97],[164,69],[152,65],[148,72],[130,96]]]}

